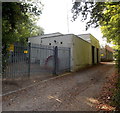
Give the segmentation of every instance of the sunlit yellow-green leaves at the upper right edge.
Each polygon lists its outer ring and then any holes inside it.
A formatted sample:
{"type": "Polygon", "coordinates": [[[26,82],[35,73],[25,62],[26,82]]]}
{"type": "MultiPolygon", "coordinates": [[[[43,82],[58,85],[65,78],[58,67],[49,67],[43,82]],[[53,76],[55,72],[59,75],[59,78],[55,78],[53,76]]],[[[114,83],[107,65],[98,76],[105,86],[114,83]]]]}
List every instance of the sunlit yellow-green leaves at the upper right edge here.
{"type": "Polygon", "coordinates": [[[120,4],[111,5],[107,3],[106,10],[103,13],[106,21],[100,23],[102,33],[108,41],[117,44],[120,38],[120,4]]]}

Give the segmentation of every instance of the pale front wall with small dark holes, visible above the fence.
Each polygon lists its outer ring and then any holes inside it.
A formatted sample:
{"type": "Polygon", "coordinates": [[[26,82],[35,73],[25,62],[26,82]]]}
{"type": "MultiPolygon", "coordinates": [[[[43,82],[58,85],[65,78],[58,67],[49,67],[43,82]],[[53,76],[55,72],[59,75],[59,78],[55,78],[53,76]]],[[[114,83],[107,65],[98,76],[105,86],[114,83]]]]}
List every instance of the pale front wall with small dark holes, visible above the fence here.
{"type": "MultiPolygon", "coordinates": [[[[29,38],[31,43],[41,44],[41,45],[50,45],[50,46],[58,46],[58,47],[69,47],[71,49],[70,53],[70,65],[71,71],[73,71],[73,42],[72,35],[63,35],[63,36],[53,36],[53,37],[45,37],[45,38],[29,38]],[[62,44],[61,44],[62,42],[62,44]]],[[[62,54],[61,54],[62,55],[62,54]]]]}

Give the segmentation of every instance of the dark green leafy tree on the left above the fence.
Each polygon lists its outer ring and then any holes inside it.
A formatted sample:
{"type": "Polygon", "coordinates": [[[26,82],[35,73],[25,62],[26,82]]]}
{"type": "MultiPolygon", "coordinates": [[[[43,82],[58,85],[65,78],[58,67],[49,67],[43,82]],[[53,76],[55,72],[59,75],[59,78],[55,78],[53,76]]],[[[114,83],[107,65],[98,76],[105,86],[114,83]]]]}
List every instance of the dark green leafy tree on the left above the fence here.
{"type": "Polygon", "coordinates": [[[3,68],[6,65],[10,44],[14,44],[15,42],[25,44],[28,37],[42,35],[44,33],[43,29],[35,23],[41,14],[41,7],[42,4],[37,7],[33,3],[25,2],[2,3],[3,68]]]}

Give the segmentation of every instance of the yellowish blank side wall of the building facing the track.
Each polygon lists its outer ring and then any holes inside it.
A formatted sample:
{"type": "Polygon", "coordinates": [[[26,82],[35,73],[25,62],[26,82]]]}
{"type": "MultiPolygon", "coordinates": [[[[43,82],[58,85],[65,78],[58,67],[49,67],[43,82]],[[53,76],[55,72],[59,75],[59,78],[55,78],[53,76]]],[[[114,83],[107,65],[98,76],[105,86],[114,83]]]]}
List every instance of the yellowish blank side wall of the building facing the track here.
{"type": "Polygon", "coordinates": [[[92,64],[91,44],[77,36],[73,38],[74,71],[92,64]]]}

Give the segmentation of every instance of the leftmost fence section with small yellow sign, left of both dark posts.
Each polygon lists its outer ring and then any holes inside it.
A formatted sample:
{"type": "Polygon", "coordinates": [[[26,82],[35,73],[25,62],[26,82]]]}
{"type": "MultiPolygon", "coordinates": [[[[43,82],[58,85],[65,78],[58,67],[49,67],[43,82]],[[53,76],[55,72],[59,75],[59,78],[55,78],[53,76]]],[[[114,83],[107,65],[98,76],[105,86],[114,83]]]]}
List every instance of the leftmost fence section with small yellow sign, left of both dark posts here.
{"type": "Polygon", "coordinates": [[[14,44],[14,50],[9,52],[3,78],[28,75],[28,46],[14,44]]]}

